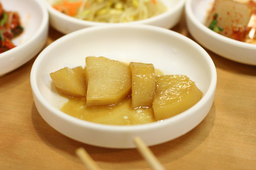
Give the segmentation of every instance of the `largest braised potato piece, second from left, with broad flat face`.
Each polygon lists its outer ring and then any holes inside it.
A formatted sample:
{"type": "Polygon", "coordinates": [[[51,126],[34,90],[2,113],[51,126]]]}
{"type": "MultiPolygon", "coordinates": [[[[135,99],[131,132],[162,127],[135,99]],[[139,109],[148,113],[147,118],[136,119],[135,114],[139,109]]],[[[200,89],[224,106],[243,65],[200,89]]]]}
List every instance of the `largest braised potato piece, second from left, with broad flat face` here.
{"type": "Polygon", "coordinates": [[[131,91],[131,71],[122,62],[105,57],[86,57],[88,82],[86,105],[112,105],[131,91]]]}

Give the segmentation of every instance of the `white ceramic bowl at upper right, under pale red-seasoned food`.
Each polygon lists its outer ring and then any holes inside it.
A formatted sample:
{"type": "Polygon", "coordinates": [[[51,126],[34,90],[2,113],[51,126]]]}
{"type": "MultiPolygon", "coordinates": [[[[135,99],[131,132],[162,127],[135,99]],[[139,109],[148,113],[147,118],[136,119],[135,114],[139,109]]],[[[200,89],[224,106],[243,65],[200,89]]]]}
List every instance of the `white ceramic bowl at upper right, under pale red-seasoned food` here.
{"type": "Polygon", "coordinates": [[[185,11],[190,34],[204,47],[227,59],[256,65],[256,45],[247,44],[220,35],[206,26],[203,21],[214,0],[187,0],[185,11]]]}

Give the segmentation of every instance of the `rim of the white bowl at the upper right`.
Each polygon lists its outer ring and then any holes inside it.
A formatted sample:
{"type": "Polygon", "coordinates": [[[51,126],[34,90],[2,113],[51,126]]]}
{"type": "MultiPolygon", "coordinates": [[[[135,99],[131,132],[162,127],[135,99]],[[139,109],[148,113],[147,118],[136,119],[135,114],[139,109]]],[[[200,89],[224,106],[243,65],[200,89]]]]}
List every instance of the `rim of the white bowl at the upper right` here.
{"type": "Polygon", "coordinates": [[[235,47],[239,48],[246,48],[250,50],[256,51],[256,45],[255,44],[249,44],[244,43],[242,41],[233,40],[232,38],[225,37],[224,35],[218,34],[212,30],[210,30],[208,27],[206,27],[203,23],[201,23],[197,17],[194,15],[192,10],[192,2],[195,0],[187,0],[185,4],[185,13],[187,18],[194,23],[194,25],[197,27],[198,30],[202,31],[205,34],[208,34],[210,37],[214,37],[215,39],[222,41],[223,43],[233,45],[235,47]]]}

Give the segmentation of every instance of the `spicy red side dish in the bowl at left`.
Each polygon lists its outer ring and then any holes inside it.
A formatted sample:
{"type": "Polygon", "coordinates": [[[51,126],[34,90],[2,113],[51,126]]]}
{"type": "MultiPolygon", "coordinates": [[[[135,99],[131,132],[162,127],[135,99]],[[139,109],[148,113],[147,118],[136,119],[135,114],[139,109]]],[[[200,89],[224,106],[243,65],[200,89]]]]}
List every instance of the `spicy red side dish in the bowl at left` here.
{"type": "Polygon", "coordinates": [[[22,32],[19,14],[3,10],[0,3],[0,53],[16,47],[10,40],[22,32]]]}

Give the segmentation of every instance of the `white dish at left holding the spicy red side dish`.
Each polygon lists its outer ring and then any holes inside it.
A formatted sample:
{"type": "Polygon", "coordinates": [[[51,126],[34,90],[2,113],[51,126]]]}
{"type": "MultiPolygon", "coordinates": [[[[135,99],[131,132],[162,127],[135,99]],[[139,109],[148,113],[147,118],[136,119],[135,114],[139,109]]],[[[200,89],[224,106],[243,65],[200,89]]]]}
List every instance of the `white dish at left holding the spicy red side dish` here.
{"type": "Polygon", "coordinates": [[[17,47],[0,54],[0,76],[20,67],[43,48],[49,15],[40,0],[1,0],[3,9],[19,13],[24,31],[12,40],[17,47]]]}

